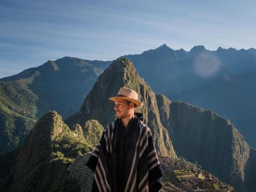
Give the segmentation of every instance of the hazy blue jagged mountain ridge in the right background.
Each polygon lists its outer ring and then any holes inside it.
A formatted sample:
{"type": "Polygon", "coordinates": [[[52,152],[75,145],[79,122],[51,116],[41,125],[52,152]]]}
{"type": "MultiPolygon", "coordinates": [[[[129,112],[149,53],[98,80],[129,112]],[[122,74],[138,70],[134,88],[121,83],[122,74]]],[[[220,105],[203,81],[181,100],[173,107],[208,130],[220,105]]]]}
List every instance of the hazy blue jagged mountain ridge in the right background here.
{"type": "Polygon", "coordinates": [[[173,50],[165,44],[142,54],[124,55],[157,94],[212,110],[229,119],[256,147],[255,49],[195,46],[173,50]]]}

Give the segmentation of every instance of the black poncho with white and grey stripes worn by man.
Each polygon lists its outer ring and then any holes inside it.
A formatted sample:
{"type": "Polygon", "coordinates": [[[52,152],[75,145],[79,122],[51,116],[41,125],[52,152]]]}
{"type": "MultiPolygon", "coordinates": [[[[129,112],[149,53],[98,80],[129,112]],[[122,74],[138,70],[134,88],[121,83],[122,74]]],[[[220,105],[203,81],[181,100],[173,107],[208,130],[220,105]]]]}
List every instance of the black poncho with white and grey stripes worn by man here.
{"type": "MultiPolygon", "coordinates": [[[[113,181],[113,178],[115,178],[113,173],[115,172],[112,172],[112,170],[118,163],[118,161],[113,161],[115,129],[117,129],[116,121],[105,127],[99,143],[87,162],[87,166],[95,173],[92,191],[122,192],[115,188],[116,183],[113,181]]],[[[134,142],[133,155],[129,154],[127,156],[127,158],[132,159],[130,159],[131,163],[127,165],[130,166],[125,167],[125,170],[129,171],[123,173],[123,175],[127,175],[124,191],[159,191],[162,188],[161,177],[163,172],[153,143],[151,130],[141,120],[138,120],[137,126],[133,129],[138,129],[138,137],[134,142]]],[[[133,136],[133,138],[135,137],[133,136]]]]}

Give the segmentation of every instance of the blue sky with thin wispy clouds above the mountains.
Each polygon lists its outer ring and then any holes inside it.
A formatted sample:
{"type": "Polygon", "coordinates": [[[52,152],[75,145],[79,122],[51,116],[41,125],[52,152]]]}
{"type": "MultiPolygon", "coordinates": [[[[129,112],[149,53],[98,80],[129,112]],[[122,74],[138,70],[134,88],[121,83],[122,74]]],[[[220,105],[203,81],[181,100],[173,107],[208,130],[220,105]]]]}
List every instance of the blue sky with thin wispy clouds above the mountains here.
{"type": "Polygon", "coordinates": [[[114,60],[166,44],[256,48],[255,1],[0,1],[0,78],[65,56],[114,60]]]}

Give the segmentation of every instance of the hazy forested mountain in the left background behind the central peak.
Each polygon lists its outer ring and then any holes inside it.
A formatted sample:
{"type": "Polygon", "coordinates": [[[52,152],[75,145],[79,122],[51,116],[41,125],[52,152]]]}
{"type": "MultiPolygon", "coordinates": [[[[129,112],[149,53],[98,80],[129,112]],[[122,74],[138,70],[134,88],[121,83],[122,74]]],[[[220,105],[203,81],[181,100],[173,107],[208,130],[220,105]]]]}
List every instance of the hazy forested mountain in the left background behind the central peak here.
{"type": "Polygon", "coordinates": [[[63,57],[0,79],[0,152],[22,144],[48,111],[56,110],[63,118],[78,111],[103,72],[95,66],[108,65],[109,61],[63,57]]]}

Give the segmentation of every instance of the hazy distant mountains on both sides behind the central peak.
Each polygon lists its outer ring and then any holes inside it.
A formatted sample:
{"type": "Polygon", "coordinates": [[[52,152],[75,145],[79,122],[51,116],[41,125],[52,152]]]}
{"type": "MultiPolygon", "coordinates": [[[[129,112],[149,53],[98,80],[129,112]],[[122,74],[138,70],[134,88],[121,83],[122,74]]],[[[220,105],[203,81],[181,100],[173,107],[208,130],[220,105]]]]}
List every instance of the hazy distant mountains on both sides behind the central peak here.
{"type": "MultiPolygon", "coordinates": [[[[123,57],[134,63],[156,93],[215,111],[236,125],[250,146],[256,147],[255,49],[209,51],[195,46],[185,51],[164,44],[123,57]]],[[[36,120],[49,110],[58,111],[64,118],[77,112],[110,63],[63,57],[0,79],[0,122],[4,125],[0,151],[19,146],[36,120]]]]}

